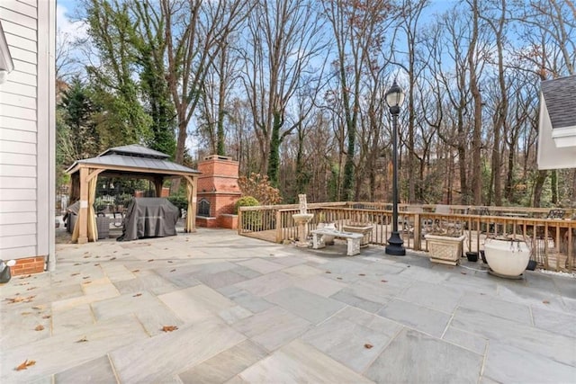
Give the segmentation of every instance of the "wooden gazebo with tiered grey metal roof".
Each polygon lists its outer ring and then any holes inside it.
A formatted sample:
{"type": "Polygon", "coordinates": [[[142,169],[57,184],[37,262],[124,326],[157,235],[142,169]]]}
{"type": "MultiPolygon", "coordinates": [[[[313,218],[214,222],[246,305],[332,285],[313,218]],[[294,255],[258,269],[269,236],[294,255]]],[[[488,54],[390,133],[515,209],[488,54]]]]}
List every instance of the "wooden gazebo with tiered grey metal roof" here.
{"type": "Polygon", "coordinates": [[[195,231],[196,192],[199,171],[168,160],[168,155],[132,144],[112,147],[102,154],[76,160],[67,170],[71,176],[70,201],[80,201],[80,210],[72,233],[72,241],[84,244],[96,241],[96,215],[94,200],[98,176],[147,179],[154,183],[157,197],[161,196],[162,184],[167,178],[182,177],[186,181],[188,211],[184,230],[195,231]]]}

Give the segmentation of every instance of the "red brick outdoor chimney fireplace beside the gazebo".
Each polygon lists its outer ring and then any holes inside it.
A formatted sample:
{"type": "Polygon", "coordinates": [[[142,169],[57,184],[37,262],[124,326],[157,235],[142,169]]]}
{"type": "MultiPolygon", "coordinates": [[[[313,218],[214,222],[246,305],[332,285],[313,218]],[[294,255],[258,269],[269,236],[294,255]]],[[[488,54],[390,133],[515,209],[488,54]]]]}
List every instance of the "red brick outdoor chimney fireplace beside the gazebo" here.
{"type": "Polygon", "coordinates": [[[241,196],[238,187],[238,161],[229,156],[205,156],[198,164],[198,227],[238,228],[233,215],[241,196]]]}

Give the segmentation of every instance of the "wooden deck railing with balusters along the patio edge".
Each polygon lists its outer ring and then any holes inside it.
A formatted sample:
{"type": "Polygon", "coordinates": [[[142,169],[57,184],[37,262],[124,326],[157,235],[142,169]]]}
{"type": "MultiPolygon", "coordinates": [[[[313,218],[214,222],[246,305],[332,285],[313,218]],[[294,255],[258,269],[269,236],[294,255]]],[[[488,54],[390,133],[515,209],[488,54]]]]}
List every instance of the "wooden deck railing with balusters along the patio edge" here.
{"type": "MultiPolygon", "coordinates": [[[[435,223],[444,227],[462,228],[464,250],[479,251],[490,236],[524,238],[532,246],[532,258],[549,270],[574,271],[576,263],[576,220],[544,219],[548,209],[510,207],[450,206],[450,213],[437,213],[436,206],[399,205],[399,231],[404,246],[415,251],[428,251],[425,235],[435,223]],[[481,213],[482,214],[478,214],[481,213]]],[[[314,214],[308,231],[317,228],[320,220],[334,222],[338,229],[345,225],[373,226],[371,243],[387,244],[392,231],[392,205],[374,202],[333,202],[308,205],[314,214]]],[[[238,234],[258,237],[275,243],[298,237],[293,214],[297,205],[242,207],[238,211],[238,234]]],[[[572,218],[574,210],[565,210],[572,218]]]]}

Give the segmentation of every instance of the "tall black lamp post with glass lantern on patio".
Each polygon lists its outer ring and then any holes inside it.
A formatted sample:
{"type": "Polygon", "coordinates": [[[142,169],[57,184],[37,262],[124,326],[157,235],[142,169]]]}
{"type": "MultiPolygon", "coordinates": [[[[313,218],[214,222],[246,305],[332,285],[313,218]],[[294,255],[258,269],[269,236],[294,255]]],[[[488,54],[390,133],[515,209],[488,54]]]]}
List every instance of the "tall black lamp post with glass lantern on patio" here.
{"type": "Polygon", "coordinates": [[[386,254],[403,256],[406,255],[406,249],[403,246],[404,241],[398,233],[398,115],[400,114],[400,107],[404,103],[404,91],[396,84],[396,80],[386,92],[386,103],[392,114],[392,165],[394,166],[394,173],[392,174],[392,235],[388,239],[386,254]]]}

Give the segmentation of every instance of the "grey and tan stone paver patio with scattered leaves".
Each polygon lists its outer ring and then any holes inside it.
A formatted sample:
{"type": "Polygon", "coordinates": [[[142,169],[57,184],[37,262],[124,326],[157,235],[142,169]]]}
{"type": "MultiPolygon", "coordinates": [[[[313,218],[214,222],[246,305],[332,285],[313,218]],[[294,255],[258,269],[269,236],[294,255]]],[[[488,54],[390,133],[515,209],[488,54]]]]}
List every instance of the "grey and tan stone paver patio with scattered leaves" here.
{"type": "Polygon", "coordinates": [[[576,381],[572,278],[203,228],[57,255],[0,288],[2,383],[576,381]]]}

